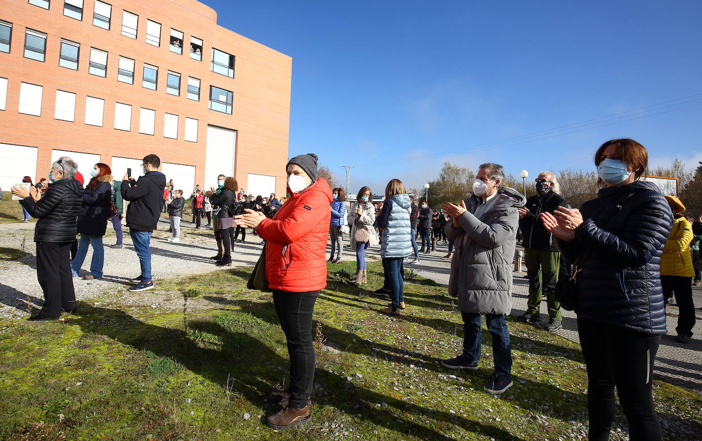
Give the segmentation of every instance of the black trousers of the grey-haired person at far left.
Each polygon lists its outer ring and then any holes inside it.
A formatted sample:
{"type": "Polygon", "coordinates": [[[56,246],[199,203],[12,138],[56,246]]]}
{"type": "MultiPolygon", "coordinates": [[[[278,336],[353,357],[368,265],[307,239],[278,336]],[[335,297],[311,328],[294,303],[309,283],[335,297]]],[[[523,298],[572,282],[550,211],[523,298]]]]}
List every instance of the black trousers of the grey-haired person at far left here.
{"type": "Polygon", "coordinates": [[[73,277],[69,261],[72,242],[37,242],[37,280],[44,291],[46,317],[59,317],[61,310],[76,307],[73,277]]]}

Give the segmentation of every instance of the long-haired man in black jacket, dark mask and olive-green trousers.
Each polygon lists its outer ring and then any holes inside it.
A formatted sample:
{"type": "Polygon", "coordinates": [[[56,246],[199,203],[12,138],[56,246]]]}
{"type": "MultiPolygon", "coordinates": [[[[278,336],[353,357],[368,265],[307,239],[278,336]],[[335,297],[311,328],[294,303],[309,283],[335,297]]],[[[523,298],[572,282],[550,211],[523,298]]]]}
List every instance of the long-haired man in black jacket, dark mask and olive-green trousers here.
{"type": "Polygon", "coordinates": [[[559,190],[553,173],[542,171],[536,178],[536,195],[527,199],[527,205],[519,209],[519,228],[524,235],[524,265],[527,265],[529,279],[529,301],[522,320],[540,324],[549,331],[561,329],[561,305],[555,298],[561,253],[556,238],[543,227],[541,213],[552,213],[559,206],[565,206],[566,201],[559,195],[559,190]],[[548,303],[548,323],[539,321],[542,290],[548,303]]]}

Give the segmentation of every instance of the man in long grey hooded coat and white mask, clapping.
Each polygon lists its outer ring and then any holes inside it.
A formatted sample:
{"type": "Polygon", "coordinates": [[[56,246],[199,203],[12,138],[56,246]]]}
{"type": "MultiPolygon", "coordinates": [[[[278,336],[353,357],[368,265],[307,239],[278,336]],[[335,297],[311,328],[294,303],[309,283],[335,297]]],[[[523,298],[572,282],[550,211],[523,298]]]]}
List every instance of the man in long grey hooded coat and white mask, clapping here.
{"type": "Polygon", "coordinates": [[[492,334],[495,367],[484,390],[492,395],[512,386],[512,353],[505,315],[512,310],[517,209],[526,202],[521,193],[503,187],[504,180],[503,167],[486,162],[479,167],[473,195],[461,206],[444,205],[444,212],[453,218],[444,231],[454,241],[449,294],[458,297],[463,318],[463,353],[443,360],[442,366],[478,369],[484,314],[492,334]]]}

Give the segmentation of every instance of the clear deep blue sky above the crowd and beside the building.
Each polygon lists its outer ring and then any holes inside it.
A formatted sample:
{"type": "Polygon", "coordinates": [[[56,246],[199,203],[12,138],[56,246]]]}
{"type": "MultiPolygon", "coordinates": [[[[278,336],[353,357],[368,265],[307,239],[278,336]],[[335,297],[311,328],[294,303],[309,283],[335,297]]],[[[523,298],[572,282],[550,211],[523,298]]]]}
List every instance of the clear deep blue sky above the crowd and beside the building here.
{"type": "Polygon", "coordinates": [[[352,192],[419,187],[446,160],[590,170],[617,137],[651,166],[702,160],[701,1],[205,3],[291,55],[290,155],[355,166],[352,192]]]}

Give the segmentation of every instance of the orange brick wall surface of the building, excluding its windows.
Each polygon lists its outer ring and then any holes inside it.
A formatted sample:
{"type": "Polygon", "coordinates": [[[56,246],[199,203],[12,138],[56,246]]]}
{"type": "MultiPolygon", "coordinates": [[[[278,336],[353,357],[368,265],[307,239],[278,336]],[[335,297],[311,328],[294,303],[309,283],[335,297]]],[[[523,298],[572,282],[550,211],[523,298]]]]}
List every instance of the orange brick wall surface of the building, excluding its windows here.
{"type": "MultiPolygon", "coordinates": [[[[204,175],[210,124],[237,131],[234,176],[240,187],[247,187],[249,173],[271,175],[284,194],[291,58],[216,25],[215,11],[197,1],[106,0],[112,4],[110,30],[93,25],[94,3],[84,0],[79,21],[63,15],[62,0],[51,0],[48,11],[27,0],[0,0],[0,20],[13,23],[11,52],[0,52],[0,77],[8,79],[0,143],[38,147],[37,178],[48,174],[51,150],[100,154],[106,164],[113,156],[140,159],[155,153],[161,162],[195,166],[196,183],[209,185],[220,173],[204,175]],[[136,39],[121,35],[123,10],[138,15],[136,39]],[[147,19],[161,23],[159,47],[145,42],[147,19]],[[24,58],[25,28],[47,34],[44,62],[24,58]],[[182,55],[169,51],[171,28],[184,33],[182,55]],[[190,36],[203,40],[201,61],[189,56],[190,36]],[[78,70],[58,65],[62,38],[80,44],[78,70]],[[88,74],[91,47],[108,52],[104,78],[88,74]],[[211,72],[213,47],[235,55],[233,79],[211,72]],[[133,84],[117,81],[119,55],[135,60],[133,84]],[[142,87],[143,63],[159,67],[156,91],[142,87]],[[166,93],[168,70],[180,73],[180,96],[166,93]],[[186,98],[187,77],[200,79],[199,101],[186,98]],[[43,86],[41,116],[18,113],[21,82],[43,86]],[[233,92],[231,115],[208,109],[210,85],[233,92]],[[74,122],[54,119],[57,90],[77,94],[74,122]],[[102,127],[84,124],[86,96],[105,100],[102,127]],[[115,103],[132,106],[131,131],[113,129],[115,103]],[[138,133],[140,107],[156,112],[153,136],[138,133]],[[166,112],[178,115],[178,139],[164,138],[166,112]],[[183,139],[186,117],[199,121],[197,143],[183,139]]],[[[121,178],[124,170],[113,174],[121,178]]]]}

